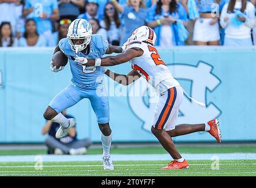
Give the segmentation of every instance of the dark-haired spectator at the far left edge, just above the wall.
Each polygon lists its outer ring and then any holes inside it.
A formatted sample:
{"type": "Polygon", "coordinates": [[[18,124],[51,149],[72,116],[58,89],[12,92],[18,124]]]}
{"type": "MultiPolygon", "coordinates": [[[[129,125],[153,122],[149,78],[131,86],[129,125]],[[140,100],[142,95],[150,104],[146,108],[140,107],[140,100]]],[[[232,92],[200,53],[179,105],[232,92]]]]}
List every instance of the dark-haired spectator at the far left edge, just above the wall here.
{"type": "Polygon", "coordinates": [[[10,22],[2,22],[0,25],[0,47],[17,46],[16,38],[13,37],[10,22]]]}

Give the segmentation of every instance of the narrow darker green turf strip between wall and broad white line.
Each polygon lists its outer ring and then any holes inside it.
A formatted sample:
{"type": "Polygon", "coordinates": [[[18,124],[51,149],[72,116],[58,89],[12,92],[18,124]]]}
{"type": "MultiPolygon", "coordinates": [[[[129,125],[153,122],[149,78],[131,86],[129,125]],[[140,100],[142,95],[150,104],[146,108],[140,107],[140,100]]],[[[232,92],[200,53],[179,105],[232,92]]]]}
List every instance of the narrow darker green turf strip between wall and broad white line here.
{"type": "MultiPolygon", "coordinates": [[[[255,145],[179,145],[177,149],[180,153],[256,153],[255,145]]],[[[101,154],[100,148],[89,148],[87,154],[101,154]]],[[[164,154],[167,153],[161,146],[151,147],[112,147],[112,154],[164,154]]],[[[45,155],[46,149],[33,150],[0,150],[0,156],[5,155],[45,155]]]]}

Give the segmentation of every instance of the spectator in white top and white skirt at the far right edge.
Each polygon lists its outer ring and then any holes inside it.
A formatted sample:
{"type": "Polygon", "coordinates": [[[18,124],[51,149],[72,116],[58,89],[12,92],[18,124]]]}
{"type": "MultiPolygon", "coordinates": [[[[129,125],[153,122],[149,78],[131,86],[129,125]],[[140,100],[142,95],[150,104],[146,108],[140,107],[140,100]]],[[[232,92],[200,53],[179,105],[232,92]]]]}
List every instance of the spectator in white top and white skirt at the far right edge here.
{"type": "Polygon", "coordinates": [[[220,24],[225,28],[224,46],[251,46],[251,29],[256,25],[254,5],[246,0],[231,0],[221,11],[220,24]],[[242,15],[237,16],[235,11],[242,15]]]}

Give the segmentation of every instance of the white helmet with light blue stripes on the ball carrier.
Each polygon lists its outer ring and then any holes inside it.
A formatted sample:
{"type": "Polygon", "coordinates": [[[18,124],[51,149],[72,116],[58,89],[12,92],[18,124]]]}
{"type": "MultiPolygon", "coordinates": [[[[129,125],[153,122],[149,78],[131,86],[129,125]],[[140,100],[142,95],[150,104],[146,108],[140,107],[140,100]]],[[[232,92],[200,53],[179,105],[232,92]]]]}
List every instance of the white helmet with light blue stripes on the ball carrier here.
{"type": "Polygon", "coordinates": [[[91,24],[86,19],[75,19],[68,27],[67,38],[72,51],[82,51],[91,42],[91,24]],[[72,39],[84,39],[84,42],[81,45],[74,45],[72,39]]]}

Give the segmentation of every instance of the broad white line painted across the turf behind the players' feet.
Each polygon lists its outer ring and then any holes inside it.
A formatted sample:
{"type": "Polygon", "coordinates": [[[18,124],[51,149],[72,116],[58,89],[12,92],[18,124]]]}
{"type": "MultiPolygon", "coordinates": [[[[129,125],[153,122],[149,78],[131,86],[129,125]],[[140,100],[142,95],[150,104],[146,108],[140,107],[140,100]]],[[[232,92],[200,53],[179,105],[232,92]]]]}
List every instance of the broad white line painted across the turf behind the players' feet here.
{"type": "MultiPolygon", "coordinates": [[[[111,155],[114,161],[135,161],[135,160],[171,160],[168,154],[141,154],[141,155],[111,155]]],[[[212,157],[220,160],[256,160],[256,153],[200,153],[183,154],[187,160],[211,160],[212,157]]],[[[43,162],[78,162],[78,161],[101,161],[102,155],[39,155],[43,162]]],[[[35,162],[38,156],[0,156],[0,162],[35,162]]]]}

